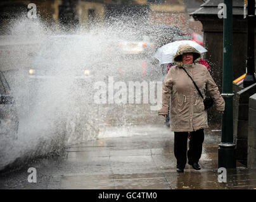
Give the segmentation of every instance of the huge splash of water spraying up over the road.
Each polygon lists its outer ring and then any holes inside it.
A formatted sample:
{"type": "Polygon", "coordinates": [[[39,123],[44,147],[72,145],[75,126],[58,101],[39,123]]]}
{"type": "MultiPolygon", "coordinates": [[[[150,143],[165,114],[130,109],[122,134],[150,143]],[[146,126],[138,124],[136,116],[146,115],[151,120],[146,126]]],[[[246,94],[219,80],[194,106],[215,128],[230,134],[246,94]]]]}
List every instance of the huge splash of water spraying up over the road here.
{"type": "MultiPolygon", "coordinates": [[[[120,52],[124,41],[142,40],[141,30],[148,26],[139,22],[134,28],[132,23],[116,21],[67,33],[40,19],[11,21],[11,34],[1,37],[0,60],[15,98],[19,128],[15,141],[1,145],[0,168],[16,158],[48,155],[97,138],[99,129],[109,124],[110,114],[115,117],[122,110],[120,105],[93,103],[95,81],[107,76],[141,80],[142,66],[147,66],[148,80],[162,80],[150,56],[124,57],[120,52]],[[29,75],[29,69],[34,73],[29,75]],[[91,77],[84,80],[88,69],[91,77]]],[[[115,122],[115,126],[129,125],[115,122]]]]}

